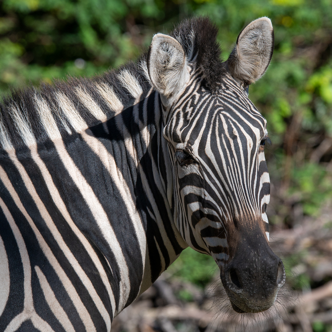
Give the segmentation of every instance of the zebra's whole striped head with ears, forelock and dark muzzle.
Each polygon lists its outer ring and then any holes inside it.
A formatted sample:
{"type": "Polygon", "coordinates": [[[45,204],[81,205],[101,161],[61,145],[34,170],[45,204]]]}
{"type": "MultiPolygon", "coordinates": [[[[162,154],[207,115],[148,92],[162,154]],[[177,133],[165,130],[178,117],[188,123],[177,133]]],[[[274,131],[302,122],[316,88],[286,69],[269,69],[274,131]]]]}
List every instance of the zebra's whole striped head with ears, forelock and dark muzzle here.
{"type": "Polygon", "coordinates": [[[225,62],[216,34],[205,18],[173,37],[157,34],[147,67],[162,103],[176,226],[190,247],[214,258],[233,309],[260,312],[285,282],[269,246],[266,120],[248,98],[269,65],[274,34],[270,19],[251,22],[225,62]]]}

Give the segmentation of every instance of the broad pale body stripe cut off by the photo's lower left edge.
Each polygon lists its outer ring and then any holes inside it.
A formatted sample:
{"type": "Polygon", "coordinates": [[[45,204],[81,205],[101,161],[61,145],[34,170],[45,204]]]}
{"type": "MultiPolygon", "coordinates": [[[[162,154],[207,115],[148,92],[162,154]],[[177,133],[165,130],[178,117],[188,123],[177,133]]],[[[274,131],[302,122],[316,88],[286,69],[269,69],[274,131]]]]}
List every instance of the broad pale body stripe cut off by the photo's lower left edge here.
{"type": "Polygon", "coordinates": [[[8,257],[1,236],[0,236],[0,284],[1,284],[0,287],[0,317],[1,317],[8,300],[9,286],[10,286],[8,257]]]}

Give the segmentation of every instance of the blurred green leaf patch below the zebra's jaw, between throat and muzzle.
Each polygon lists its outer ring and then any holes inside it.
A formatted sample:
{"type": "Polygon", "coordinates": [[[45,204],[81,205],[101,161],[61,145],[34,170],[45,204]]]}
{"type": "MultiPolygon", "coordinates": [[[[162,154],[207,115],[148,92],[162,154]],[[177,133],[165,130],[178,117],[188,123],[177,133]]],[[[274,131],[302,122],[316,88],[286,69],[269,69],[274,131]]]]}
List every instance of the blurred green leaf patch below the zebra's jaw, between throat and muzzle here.
{"type": "MultiPolygon", "coordinates": [[[[190,247],[183,250],[179,258],[167,269],[173,277],[179,277],[202,288],[211,281],[215,271],[219,269],[211,256],[203,255],[190,247]]],[[[189,295],[179,293],[184,300],[189,300],[189,295]]]]}

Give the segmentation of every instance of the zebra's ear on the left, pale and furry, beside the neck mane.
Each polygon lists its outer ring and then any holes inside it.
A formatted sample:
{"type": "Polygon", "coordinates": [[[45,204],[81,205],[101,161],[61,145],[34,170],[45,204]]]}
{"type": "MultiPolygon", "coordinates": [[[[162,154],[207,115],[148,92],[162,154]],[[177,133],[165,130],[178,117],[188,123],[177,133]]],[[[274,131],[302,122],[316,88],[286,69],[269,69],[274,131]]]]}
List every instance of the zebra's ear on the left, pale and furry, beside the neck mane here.
{"type": "Polygon", "coordinates": [[[153,86],[168,101],[183,90],[190,77],[183,47],[175,38],[163,34],[152,39],[147,69],[153,86]]]}

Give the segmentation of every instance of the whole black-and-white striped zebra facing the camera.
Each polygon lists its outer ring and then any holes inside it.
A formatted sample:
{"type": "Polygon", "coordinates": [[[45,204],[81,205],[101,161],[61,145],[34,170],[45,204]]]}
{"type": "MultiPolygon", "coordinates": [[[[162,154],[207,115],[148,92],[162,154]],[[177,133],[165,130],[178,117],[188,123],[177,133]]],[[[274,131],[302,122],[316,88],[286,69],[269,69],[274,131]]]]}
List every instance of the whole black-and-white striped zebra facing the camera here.
{"type": "Polygon", "coordinates": [[[27,87],[0,112],[0,331],[110,331],[186,247],[211,255],[233,309],[285,282],[269,246],[267,17],[222,61],[207,17],[154,35],[136,62],[27,87]]]}

